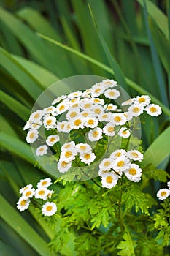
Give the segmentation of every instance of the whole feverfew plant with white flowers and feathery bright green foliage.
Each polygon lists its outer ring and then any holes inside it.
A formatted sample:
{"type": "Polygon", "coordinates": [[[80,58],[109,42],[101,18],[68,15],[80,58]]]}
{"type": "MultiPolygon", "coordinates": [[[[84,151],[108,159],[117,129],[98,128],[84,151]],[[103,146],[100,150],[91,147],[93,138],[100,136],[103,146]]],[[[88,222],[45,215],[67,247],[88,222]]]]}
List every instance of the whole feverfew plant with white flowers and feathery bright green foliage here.
{"type": "MultiPolygon", "coordinates": [[[[33,199],[46,201],[42,214],[53,215],[51,226],[58,227],[50,243],[55,252],[72,237],[73,255],[165,255],[170,213],[164,206],[167,222],[160,233],[160,214],[150,211],[156,201],[142,191],[154,167],[142,170],[144,154],[137,136],[139,116],[159,116],[161,107],[148,95],[122,102],[120,97],[117,82],[105,79],[53,99],[50,106],[31,113],[24,127],[38,161],[44,157],[45,163],[55,165],[55,182],[64,187],[56,205],[48,189],[50,178],[39,181],[36,189],[27,185],[20,189],[17,207],[24,211],[33,199]]],[[[166,181],[165,171],[155,173],[166,181]]],[[[157,197],[166,199],[169,189],[159,190],[157,197]]]]}

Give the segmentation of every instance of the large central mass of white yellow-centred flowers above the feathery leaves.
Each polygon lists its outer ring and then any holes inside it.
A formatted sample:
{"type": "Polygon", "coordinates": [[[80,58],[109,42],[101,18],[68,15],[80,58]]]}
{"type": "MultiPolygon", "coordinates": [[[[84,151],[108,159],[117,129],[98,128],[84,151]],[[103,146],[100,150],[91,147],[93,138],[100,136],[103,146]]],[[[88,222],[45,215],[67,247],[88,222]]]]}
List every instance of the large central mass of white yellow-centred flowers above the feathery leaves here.
{"type": "MultiPolygon", "coordinates": [[[[42,141],[39,128],[44,127],[47,138],[36,148],[36,156],[43,156],[53,148],[55,156],[57,155],[56,161],[60,173],[66,173],[73,162],[80,163],[80,166],[97,162],[99,140],[102,144],[103,139],[109,140],[117,136],[128,141],[132,132],[133,118],[142,115],[144,111],[150,116],[161,114],[161,107],[151,104],[151,99],[147,95],[123,101],[120,106],[117,104],[117,99],[120,99],[121,94],[115,80],[105,79],[85,91],[62,95],[54,99],[49,107],[31,114],[24,127],[28,129],[26,141],[28,143],[42,141]],[[125,108],[126,111],[123,110],[125,108]],[[61,146],[63,135],[72,135],[69,137],[72,139],[64,141],[61,146]]],[[[142,170],[131,161],[142,159],[143,156],[139,151],[125,150],[112,152],[109,159],[102,159],[98,166],[103,187],[113,187],[123,173],[129,180],[138,182],[142,170]]]]}

